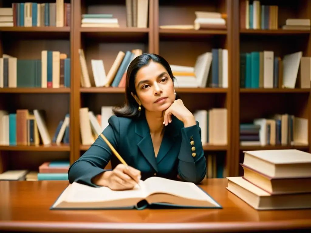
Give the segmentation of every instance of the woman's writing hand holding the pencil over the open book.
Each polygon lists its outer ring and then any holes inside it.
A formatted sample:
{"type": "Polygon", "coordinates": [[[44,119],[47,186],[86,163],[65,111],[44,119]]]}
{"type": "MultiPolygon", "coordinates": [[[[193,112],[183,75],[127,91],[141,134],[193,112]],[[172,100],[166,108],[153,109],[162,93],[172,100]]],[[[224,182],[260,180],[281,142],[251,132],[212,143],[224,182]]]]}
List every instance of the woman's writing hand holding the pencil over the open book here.
{"type": "Polygon", "coordinates": [[[93,183],[109,187],[111,190],[133,189],[141,178],[139,170],[133,167],[126,167],[122,163],[112,171],[105,171],[98,177],[94,177],[93,183]]]}

